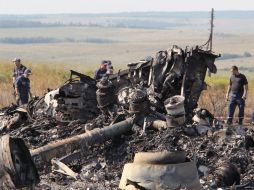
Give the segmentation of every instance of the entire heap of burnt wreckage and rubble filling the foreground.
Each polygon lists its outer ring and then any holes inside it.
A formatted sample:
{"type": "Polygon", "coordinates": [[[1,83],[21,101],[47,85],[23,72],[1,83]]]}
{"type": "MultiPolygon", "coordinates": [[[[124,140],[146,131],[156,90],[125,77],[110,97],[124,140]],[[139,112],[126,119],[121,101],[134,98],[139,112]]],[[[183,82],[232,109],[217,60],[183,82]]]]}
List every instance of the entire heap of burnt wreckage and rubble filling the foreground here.
{"type": "Polygon", "coordinates": [[[2,138],[26,143],[41,181],[24,159],[29,152],[10,146],[14,169],[0,150],[0,187],[254,188],[254,130],[224,127],[197,108],[217,57],[173,46],[100,81],[71,71],[63,86],[26,108],[4,108],[2,138]]]}

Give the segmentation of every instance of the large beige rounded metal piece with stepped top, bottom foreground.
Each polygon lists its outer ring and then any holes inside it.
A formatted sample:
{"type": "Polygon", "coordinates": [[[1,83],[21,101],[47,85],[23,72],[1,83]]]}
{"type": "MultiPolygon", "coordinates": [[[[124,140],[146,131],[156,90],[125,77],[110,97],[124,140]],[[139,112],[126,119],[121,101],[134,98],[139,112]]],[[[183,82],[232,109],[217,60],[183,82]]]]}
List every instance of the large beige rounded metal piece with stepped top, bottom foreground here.
{"type": "MultiPolygon", "coordinates": [[[[177,153],[138,153],[133,163],[125,164],[120,189],[126,189],[128,181],[149,190],[188,188],[200,190],[195,162],[171,163],[177,153]],[[141,155],[140,155],[141,154],[141,155]],[[154,154],[154,155],[153,155],[154,154]],[[142,157],[142,159],[141,159],[142,157]]],[[[179,153],[184,156],[183,153],[179,153]]]]}

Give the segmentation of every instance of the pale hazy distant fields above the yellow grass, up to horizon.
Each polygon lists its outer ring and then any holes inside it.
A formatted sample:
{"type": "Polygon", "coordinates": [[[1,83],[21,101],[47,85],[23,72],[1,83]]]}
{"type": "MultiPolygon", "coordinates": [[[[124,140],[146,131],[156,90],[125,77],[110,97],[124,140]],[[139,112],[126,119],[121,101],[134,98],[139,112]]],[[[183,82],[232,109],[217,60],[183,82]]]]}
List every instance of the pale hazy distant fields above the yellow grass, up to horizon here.
{"type": "MultiPolygon", "coordinates": [[[[94,70],[102,59],[116,68],[155,56],[176,44],[183,49],[204,44],[208,12],[119,13],[81,15],[0,15],[0,59],[71,64],[94,70]]],[[[219,68],[252,67],[254,11],[215,12],[213,50],[219,68]]]]}

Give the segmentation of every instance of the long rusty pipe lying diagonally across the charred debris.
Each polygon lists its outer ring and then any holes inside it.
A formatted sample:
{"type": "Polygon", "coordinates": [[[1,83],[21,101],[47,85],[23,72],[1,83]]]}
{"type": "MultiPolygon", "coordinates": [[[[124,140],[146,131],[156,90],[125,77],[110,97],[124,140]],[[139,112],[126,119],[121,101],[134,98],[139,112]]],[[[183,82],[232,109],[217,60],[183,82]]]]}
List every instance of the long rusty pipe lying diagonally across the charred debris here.
{"type": "Polygon", "coordinates": [[[83,147],[97,143],[103,143],[116,136],[127,133],[132,130],[133,123],[134,118],[128,118],[102,129],[94,129],[84,134],[56,141],[31,150],[31,155],[35,163],[50,162],[52,158],[62,157],[74,150],[82,149],[83,147]]]}

